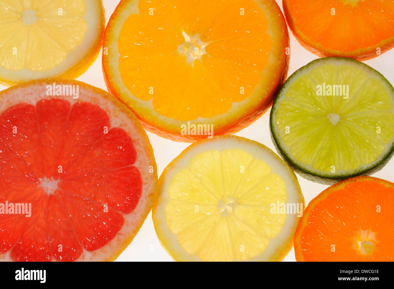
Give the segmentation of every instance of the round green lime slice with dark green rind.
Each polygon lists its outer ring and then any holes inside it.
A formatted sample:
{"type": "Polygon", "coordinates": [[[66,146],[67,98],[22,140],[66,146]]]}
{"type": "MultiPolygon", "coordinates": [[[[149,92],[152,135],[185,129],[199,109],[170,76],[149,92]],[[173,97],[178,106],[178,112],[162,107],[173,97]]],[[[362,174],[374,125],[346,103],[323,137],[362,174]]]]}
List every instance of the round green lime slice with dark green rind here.
{"type": "Polygon", "coordinates": [[[282,86],[270,131],[277,151],[306,179],[332,184],[372,174],[394,153],[394,88],[357,60],[314,60],[282,86]]]}

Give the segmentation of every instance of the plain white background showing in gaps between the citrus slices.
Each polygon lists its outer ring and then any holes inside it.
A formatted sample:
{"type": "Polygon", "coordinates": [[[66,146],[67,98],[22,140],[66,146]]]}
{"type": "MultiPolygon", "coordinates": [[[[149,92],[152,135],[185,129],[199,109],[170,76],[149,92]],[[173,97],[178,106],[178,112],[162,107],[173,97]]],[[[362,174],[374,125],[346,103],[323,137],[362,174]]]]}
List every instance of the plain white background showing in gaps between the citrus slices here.
{"type": "MultiPolygon", "coordinates": [[[[282,1],[277,0],[276,2],[282,9],[282,1]]],[[[103,0],[103,3],[106,14],[106,23],[108,23],[108,20],[110,19],[110,16],[112,15],[119,1],[103,0]]],[[[313,25],[313,23],[310,23],[310,25],[313,25]]],[[[357,29],[357,27],[354,27],[354,29],[357,29]]],[[[332,33],[335,33],[335,31],[332,33]]],[[[299,69],[301,66],[306,65],[312,60],[318,58],[314,54],[305,50],[305,48],[301,47],[290,31],[289,34],[291,55],[288,76],[294,73],[294,71],[299,69]]],[[[379,71],[388,79],[391,84],[394,84],[394,49],[378,56],[377,58],[365,61],[364,63],[379,71]]],[[[80,76],[78,80],[107,90],[102,75],[101,53],[96,62],[93,63],[93,65],[84,73],[84,75],[80,76]]],[[[5,89],[5,87],[0,86],[0,90],[2,89],[5,89]]],[[[236,133],[236,135],[260,142],[276,153],[275,147],[271,142],[271,137],[269,136],[268,123],[269,110],[262,117],[257,119],[255,123],[252,123],[249,125],[249,127],[236,133]]],[[[149,139],[151,140],[156,158],[158,175],[160,176],[167,164],[169,164],[173,158],[177,157],[179,153],[189,144],[173,142],[171,140],[156,136],[150,132],[147,133],[149,139]]],[[[390,162],[388,162],[388,164],[382,170],[375,173],[373,176],[394,182],[394,158],[390,160],[390,162]]],[[[322,190],[327,188],[325,185],[307,181],[299,175],[297,175],[297,178],[305,198],[305,204],[308,204],[310,200],[322,192],[322,190]]],[[[151,213],[148,215],[137,236],[126,248],[126,250],[118,257],[117,261],[172,261],[171,257],[169,257],[169,255],[165,252],[156,237],[151,213]]],[[[290,251],[284,261],[296,261],[294,257],[294,249],[290,251]]]]}

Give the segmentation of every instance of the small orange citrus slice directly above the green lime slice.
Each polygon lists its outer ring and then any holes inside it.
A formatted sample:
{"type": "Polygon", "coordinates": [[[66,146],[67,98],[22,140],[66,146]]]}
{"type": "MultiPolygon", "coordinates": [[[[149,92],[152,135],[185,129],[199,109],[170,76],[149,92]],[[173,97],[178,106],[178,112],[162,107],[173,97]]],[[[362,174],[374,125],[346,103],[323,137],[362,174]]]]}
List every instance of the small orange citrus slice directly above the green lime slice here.
{"type": "Polygon", "coordinates": [[[394,2],[283,0],[298,42],[320,57],[367,60],[394,47],[394,2]]]}

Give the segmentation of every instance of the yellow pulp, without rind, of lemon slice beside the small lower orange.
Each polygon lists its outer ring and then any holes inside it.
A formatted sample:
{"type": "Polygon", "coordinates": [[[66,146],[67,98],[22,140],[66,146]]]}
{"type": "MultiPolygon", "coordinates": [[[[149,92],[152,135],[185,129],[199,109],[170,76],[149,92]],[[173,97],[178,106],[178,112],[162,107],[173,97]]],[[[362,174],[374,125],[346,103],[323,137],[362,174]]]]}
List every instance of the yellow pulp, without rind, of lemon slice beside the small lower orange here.
{"type": "Polygon", "coordinates": [[[184,250],[204,261],[255,257],[286,217],[270,212],[272,203],[286,202],[284,181],[241,149],[196,155],[174,175],[168,195],[167,225],[184,250]]]}

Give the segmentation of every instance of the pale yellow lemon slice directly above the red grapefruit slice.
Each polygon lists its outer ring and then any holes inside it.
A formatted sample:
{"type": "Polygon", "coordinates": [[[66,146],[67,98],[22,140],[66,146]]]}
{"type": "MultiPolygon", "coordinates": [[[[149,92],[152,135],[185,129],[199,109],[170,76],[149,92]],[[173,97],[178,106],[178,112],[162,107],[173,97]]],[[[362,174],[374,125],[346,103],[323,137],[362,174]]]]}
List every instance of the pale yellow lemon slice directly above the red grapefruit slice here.
{"type": "Polygon", "coordinates": [[[97,58],[104,28],[101,0],[0,0],[0,84],[77,78],[97,58]]]}

